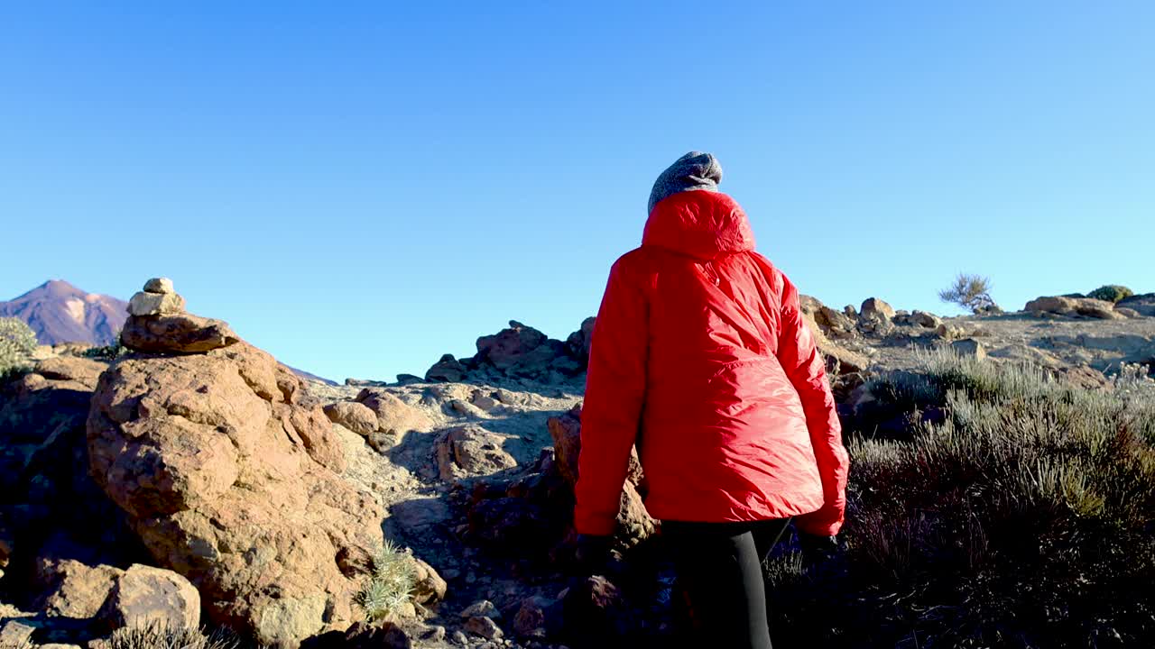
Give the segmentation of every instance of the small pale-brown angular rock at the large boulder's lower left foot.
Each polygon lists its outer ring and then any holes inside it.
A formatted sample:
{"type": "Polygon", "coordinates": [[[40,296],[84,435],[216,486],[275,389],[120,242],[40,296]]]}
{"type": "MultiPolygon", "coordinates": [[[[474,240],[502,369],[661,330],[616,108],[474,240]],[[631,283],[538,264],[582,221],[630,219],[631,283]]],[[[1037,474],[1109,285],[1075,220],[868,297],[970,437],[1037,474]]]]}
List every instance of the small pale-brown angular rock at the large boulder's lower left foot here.
{"type": "Polygon", "coordinates": [[[201,596],[177,573],[136,564],[117,577],[97,617],[109,631],[151,625],[195,629],[201,596]]]}

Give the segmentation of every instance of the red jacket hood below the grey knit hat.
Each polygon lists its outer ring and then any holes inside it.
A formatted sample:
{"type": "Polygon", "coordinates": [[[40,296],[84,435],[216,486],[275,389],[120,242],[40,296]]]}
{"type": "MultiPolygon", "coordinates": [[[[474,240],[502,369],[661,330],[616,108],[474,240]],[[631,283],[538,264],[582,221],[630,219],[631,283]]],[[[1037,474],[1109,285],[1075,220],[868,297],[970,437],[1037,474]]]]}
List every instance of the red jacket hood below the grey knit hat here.
{"type": "Polygon", "coordinates": [[[657,246],[698,259],[754,249],[754,232],[742,206],[721,192],[673,194],[654,207],[642,246],[657,246]]]}

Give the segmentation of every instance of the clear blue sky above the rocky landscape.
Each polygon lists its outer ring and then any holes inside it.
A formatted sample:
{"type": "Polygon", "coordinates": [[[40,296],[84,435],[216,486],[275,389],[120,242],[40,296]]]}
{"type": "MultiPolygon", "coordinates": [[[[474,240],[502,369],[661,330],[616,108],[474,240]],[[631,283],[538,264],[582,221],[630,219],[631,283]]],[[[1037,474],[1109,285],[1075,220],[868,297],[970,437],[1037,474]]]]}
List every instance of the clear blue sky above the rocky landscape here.
{"type": "Polygon", "coordinates": [[[561,5],[5,3],[0,299],[166,275],[291,365],[424,373],[574,330],[691,149],[835,306],[1155,291],[1155,3],[561,5]]]}

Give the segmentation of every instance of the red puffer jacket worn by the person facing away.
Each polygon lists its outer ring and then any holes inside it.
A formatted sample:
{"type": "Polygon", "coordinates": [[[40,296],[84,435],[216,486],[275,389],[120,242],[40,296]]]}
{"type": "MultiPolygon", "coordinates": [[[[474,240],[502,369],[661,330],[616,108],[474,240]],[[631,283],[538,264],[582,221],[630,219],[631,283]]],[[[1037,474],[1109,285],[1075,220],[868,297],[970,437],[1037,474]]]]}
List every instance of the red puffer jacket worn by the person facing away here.
{"type": "Polygon", "coordinates": [[[613,264],[581,418],[581,534],[613,531],[635,443],[655,519],[842,525],[849,460],[821,355],[725,194],[661,201],[613,264]]]}

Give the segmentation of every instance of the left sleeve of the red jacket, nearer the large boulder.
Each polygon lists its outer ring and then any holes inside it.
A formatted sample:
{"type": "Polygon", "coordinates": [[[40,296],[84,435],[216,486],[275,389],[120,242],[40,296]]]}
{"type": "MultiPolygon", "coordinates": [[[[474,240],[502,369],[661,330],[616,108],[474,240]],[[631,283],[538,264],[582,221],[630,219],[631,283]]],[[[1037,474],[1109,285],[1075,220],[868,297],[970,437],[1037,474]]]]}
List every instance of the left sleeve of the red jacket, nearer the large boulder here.
{"type": "Polygon", "coordinates": [[[574,528],[586,535],[614,531],[646,398],[649,308],[641,282],[623,262],[610,271],[586,375],[574,490],[574,528]]]}

